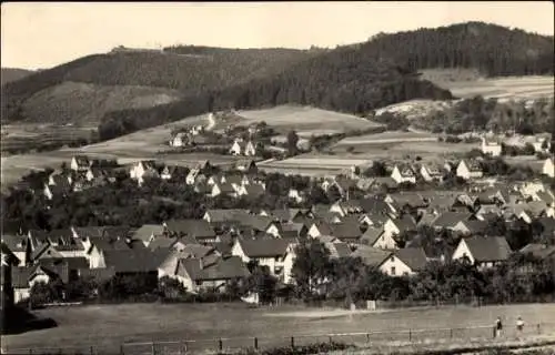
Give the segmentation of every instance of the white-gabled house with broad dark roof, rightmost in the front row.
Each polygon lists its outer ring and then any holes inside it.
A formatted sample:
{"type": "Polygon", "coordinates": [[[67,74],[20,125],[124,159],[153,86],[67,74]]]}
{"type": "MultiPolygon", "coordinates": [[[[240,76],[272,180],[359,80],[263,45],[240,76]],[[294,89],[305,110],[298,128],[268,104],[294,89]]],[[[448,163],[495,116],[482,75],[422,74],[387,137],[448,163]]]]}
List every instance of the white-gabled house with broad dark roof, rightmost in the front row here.
{"type": "Polygon", "coordinates": [[[461,239],[453,253],[453,260],[466,258],[472,265],[492,267],[511,255],[511,247],[504,236],[473,236],[461,239]]]}

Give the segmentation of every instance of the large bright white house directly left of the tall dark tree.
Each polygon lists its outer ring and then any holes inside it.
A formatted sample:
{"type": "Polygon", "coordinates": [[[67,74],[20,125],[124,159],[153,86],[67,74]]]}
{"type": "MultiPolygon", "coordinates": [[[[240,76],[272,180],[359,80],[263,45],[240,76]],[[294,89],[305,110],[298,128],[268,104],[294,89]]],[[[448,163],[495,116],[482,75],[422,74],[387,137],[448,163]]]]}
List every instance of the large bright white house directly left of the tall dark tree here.
{"type": "Polygon", "coordinates": [[[268,266],[270,273],[289,284],[292,280],[294,245],[286,240],[241,240],[233,244],[231,254],[241,257],[243,263],[256,261],[261,266],[268,266]]]}

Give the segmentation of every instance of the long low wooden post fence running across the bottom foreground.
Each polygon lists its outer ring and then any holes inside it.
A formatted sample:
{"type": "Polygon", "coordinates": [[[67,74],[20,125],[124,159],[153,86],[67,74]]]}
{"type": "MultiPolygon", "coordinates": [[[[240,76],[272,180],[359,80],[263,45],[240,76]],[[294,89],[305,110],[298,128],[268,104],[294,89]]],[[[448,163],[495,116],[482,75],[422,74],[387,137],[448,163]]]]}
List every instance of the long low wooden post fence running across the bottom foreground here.
{"type": "MultiPolygon", "coordinates": [[[[525,338],[542,334],[555,334],[555,323],[527,324],[521,334],[505,329],[502,338],[525,338]]],[[[2,348],[2,354],[56,354],[56,355],[185,355],[218,354],[242,348],[268,349],[273,347],[295,347],[315,343],[336,342],[345,344],[387,344],[391,342],[421,343],[430,339],[487,339],[495,336],[492,325],[453,328],[398,329],[360,333],[299,334],[292,336],[221,337],[208,339],[181,339],[124,343],[120,345],[82,345],[43,348],[2,348]]]]}

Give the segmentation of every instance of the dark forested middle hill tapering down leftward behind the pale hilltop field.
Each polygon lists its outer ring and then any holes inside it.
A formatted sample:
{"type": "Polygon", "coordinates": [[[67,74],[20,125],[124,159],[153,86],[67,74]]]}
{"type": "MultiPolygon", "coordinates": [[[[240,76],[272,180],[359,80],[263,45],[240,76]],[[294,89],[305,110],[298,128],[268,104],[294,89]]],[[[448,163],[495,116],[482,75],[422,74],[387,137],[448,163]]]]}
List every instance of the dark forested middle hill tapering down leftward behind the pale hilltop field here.
{"type": "Polygon", "coordinates": [[[365,113],[420,98],[445,100],[452,99],[452,95],[395,62],[366,52],[365,47],[343,47],[301,61],[275,75],[155,108],[110,112],[99,126],[99,133],[102,139],[111,139],[190,115],[230,108],[299,103],[365,113]]]}

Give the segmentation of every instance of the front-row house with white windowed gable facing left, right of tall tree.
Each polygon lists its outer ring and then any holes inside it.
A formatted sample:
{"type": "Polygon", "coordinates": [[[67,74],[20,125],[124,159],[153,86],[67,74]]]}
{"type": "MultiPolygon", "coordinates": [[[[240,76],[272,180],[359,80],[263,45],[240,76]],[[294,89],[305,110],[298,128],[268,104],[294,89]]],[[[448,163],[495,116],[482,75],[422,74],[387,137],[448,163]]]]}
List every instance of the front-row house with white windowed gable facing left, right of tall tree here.
{"type": "Polygon", "coordinates": [[[404,247],[391,253],[379,268],[390,276],[408,276],[426,267],[427,258],[422,247],[404,247]]]}

